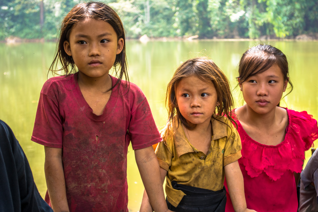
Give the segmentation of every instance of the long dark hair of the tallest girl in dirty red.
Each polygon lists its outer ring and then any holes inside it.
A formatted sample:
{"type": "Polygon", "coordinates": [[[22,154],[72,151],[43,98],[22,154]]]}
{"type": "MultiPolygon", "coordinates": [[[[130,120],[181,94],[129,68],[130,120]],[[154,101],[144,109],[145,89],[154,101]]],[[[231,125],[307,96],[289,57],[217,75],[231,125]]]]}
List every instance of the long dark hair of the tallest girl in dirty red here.
{"type": "MultiPolygon", "coordinates": [[[[59,42],[53,62],[49,68],[49,71],[53,73],[58,71],[64,71],[65,76],[77,72],[76,65],[73,61],[72,56],[68,56],[64,51],[64,41],[69,40],[69,36],[73,26],[85,18],[93,18],[97,20],[106,21],[110,24],[117,34],[117,40],[123,38],[124,46],[121,53],[116,55],[114,62],[114,71],[118,80],[115,85],[121,83],[121,79],[125,76],[126,85],[129,83],[128,71],[127,71],[127,59],[126,59],[126,41],[125,41],[125,30],[118,14],[107,4],[101,2],[88,2],[77,4],[73,9],[64,17],[60,28],[59,42]],[[62,67],[58,68],[59,62],[62,67]],[[120,66],[118,73],[117,67],[120,66]]],[[[115,86],[113,85],[113,87],[115,86]]],[[[113,88],[112,87],[112,88],[113,88]]],[[[111,89],[112,89],[111,88],[111,89]]]]}

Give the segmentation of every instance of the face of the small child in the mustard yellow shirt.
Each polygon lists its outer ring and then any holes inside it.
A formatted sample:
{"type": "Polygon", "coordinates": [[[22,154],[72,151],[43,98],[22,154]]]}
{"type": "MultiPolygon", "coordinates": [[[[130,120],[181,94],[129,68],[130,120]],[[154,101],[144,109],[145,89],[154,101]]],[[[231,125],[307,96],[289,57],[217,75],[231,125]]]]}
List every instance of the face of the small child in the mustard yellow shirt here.
{"type": "Polygon", "coordinates": [[[218,102],[212,81],[197,76],[183,78],[176,86],[176,100],[180,113],[191,124],[209,124],[218,102]]]}

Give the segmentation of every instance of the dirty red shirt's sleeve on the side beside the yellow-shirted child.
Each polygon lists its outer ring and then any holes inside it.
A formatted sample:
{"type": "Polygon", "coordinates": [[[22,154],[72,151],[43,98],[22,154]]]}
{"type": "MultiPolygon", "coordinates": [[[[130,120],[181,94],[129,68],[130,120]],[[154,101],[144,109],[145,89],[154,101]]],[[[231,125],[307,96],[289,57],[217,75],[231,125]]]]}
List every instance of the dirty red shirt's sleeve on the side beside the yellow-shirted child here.
{"type": "MultiPolygon", "coordinates": [[[[131,87],[130,89],[133,88],[131,87]]],[[[139,90],[135,91],[135,102],[132,107],[128,127],[128,133],[134,150],[146,148],[162,141],[148,101],[140,88],[138,89],[139,90]]]]}

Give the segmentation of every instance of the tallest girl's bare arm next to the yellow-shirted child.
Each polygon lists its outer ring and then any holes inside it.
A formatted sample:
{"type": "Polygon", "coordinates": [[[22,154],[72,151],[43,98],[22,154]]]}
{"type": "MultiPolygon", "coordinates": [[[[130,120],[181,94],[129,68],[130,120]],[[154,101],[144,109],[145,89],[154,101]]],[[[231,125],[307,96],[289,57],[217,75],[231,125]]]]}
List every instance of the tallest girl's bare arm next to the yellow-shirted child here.
{"type": "MultiPolygon", "coordinates": [[[[159,163],[154,149],[152,146],[137,149],[135,158],[151,206],[156,212],[170,211],[164,198],[159,163]]],[[[149,205],[145,209],[149,210],[149,205]]]]}

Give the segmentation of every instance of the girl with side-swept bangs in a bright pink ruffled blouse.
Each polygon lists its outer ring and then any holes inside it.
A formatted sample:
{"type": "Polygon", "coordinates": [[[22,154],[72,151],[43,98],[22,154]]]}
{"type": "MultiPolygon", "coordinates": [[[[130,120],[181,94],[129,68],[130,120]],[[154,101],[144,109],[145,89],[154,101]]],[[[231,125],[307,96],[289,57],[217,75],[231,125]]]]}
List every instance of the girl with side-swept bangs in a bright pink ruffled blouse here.
{"type": "MultiPolygon", "coordinates": [[[[278,106],[287,84],[293,88],[279,49],[259,44],[245,51],[238,81],[246,104],[235,109],[234,119],[242,140],[239,165],[247,208],[296,212],[294,173],[301,172],[304,151],[318,138],[317,121],[305,111],[278,106]]],[[[225,211],[234,211],[228,193],[225,211]]]]}

